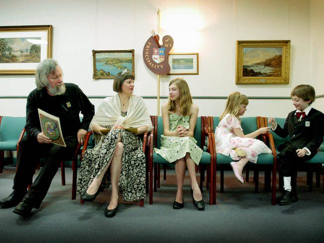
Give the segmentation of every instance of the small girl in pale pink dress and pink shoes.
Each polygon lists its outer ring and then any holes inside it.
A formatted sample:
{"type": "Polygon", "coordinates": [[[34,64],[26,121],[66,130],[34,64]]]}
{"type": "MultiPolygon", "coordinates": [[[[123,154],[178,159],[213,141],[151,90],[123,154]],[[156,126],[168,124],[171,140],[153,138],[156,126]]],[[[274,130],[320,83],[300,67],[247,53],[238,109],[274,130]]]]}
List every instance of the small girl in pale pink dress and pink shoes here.
{"type": "Polygon", "coordinates": [[[231,166],[241,183],[244,183],[242,171],[246,163],[248,161],[256,163],[259,154],[271,153],[266,144],[255,139],[258,135],[268,132],[270,127],[262,127],[246,135],[243,133],[239,117],[244,115],[248,104],[245,95],[239,92],[231,93],[215,130],[216,152],[225,156],[230,155],[233,160],[238,160],[238,162],[231,162],[231,166]]]}

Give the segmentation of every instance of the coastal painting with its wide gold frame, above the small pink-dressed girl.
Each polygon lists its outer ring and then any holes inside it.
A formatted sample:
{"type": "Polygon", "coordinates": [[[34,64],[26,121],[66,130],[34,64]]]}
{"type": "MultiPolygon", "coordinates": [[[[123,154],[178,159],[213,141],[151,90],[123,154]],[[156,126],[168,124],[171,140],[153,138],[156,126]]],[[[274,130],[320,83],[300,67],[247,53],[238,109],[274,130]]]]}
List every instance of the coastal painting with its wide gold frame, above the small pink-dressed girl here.
{"type": "Polygon", "coordinates": [[[289,84],[290,40],[237,40],[236,84],[289,84]]]}

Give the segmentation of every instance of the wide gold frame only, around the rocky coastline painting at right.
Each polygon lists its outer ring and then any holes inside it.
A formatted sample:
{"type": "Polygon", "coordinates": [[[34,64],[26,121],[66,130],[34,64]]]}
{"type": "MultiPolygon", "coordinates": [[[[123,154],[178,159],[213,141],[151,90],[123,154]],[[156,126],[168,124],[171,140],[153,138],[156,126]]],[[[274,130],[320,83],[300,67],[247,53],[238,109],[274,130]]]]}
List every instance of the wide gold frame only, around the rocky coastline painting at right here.
{"type": "Polygon", "coordinates": [[[236,84],[289,84],[290,40],[237,40],[236,84]],[[243,48],[282,48],[281,76],[243,76],[243,48]]]}

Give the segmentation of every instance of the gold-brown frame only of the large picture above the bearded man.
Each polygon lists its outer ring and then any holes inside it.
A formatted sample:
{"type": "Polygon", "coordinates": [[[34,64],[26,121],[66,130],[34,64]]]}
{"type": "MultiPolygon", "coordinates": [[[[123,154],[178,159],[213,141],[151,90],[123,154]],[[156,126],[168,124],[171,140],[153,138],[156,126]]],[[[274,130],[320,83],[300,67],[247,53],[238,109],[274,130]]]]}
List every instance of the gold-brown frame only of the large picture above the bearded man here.
{"type": "MultiPolygon", "coordinates": [[[[46,45],[46,58],[52,57],[52,25],[25,25],[25,26],[0,26],[1,32],[32,32],[32,31],[44,31],[47,36],[47,45],[46,45]]],[[[42,61],[42,60],[41,60],[42,61]]],[[[21,63],[17,63],[18,65],[22,65],[21,63]]],[[[0,74],[35,74],[35,69],[0,69],[0,74]]]]}

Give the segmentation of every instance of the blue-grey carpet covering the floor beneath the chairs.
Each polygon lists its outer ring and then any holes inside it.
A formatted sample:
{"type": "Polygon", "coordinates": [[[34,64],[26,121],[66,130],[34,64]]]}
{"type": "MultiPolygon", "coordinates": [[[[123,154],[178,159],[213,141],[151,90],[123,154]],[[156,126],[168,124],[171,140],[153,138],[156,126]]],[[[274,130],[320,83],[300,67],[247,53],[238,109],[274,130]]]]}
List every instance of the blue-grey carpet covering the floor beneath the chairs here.
{"type": "MultiPolygon", "coordinates": [[[[14,167],[5,166],[0,174],[0,198],[11,193],[14,173],[14,167]]],[[[66,168],[66,186],[61,186],[59,169],[40,209],[34,209],[30,218],[13,214],[13,208],[0,209],[0,243],[324,242],[323,185],[308,192],[305,173],[298,176],[299,202],[282,207],[270,204],[271,193],[263,190],[262,173],[259,193],[254,193],[254,183],[239,183],[231,171],[225,172],[225,192],[219,193],[217,176],[217,205],[208,204],[205,190],[203,212],[192,204],[188,175],[184,208],[172,209],[175,175],[168,171],[167,179],[161,180],[161,188],[154,193],[153,205],[149,205],[149,195],[144,207],[120,200],[117,215],[106,218],[110,189],[94,202],[80,205],[79,197],[71,200],[71,169],[66,168]]]]}

